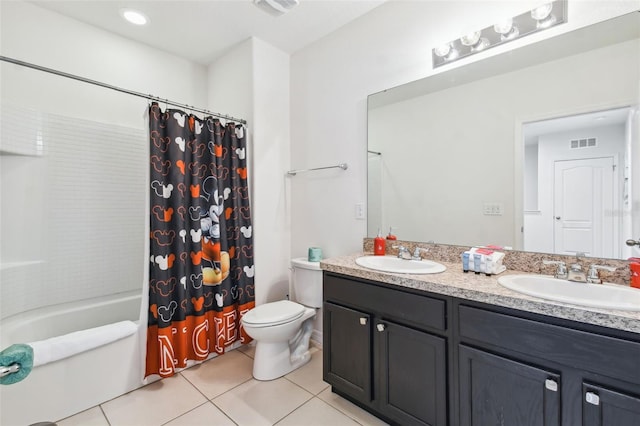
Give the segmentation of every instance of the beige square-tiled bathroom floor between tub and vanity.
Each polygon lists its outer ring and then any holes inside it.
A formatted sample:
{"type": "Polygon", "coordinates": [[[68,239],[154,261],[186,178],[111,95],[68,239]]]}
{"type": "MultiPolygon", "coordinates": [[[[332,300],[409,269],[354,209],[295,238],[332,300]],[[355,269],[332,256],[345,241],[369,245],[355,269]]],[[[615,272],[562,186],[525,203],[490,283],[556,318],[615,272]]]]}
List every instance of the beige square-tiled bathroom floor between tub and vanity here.
{"type": "Polygon", "coordinates": [[[58,426],[347,426],[386,423],[331,392],[322,352],[285,377],[251,376],[248,345],[57,422],[58,426]]]}

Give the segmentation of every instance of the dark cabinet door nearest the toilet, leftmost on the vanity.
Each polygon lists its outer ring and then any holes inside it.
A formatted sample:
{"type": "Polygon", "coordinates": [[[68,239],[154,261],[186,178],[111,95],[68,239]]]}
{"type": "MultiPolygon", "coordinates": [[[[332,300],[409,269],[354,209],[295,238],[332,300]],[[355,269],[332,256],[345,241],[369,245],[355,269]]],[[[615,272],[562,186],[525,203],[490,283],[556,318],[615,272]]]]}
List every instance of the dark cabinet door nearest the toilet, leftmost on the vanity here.
{"type": "Polygon", "coordinates": [[[324,304],[323,378],[359,401],[371,401],[371,316],[324,304]]]}

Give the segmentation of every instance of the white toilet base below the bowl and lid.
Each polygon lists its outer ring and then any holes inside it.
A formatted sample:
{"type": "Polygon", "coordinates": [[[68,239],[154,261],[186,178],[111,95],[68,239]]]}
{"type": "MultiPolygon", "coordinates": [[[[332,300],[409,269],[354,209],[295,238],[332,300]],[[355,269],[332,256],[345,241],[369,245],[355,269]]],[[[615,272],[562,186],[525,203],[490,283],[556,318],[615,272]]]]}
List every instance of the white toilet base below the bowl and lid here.
{"type": "Polygon", "coordinates": [[[297,335],[289,341],[258,341],[253,359],[253,377],[256,380],[274,380],[309,362],[312,321],[313,318],[305,320],[297,335]]]}

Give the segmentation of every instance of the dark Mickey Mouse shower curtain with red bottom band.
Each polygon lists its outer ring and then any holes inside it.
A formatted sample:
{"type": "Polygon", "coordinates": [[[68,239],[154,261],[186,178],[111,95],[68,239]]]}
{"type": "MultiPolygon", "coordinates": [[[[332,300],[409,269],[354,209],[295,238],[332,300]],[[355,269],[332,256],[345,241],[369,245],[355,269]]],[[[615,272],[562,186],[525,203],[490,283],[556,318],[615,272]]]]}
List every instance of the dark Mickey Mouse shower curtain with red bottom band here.
{"type": "Polygon", "coordinates": [[[145,377],[250,338],[253,227],[244,127],[149,107],[150,258],[145,377]]]}

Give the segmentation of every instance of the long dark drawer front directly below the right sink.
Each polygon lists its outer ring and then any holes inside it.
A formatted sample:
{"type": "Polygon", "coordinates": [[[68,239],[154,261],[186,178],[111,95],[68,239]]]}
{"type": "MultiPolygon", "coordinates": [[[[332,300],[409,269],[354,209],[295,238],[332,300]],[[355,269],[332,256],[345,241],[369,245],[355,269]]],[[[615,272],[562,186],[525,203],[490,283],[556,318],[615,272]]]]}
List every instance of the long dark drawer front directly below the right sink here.
{"type": "Polygon", "coordinates": [[[640,343],[461,305],[460,337],[640,384],[640,343]]]}

